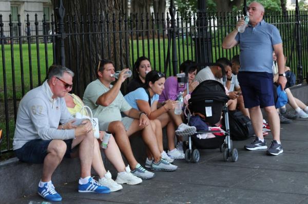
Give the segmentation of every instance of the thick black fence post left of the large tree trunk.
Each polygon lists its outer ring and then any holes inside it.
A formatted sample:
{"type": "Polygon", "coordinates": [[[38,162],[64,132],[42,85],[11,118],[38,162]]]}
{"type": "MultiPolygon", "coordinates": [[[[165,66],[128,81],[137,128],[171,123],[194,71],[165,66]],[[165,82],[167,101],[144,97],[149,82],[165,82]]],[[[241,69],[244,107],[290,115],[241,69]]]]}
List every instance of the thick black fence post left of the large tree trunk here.
{"type": "MultiPolygon", "coordinates": [[[[58,20],[58,30],[57,40],[56,40],[56,47],[57,51],[60,53],[60,64],[65,66],[65,49],[64,49],[64,42],[65,42],[65,30],[64,30],[64,15],[65,15],[65,8],[63,6],[63,1],[59,1],[59,7],[56,8],[57,20],[58,20]]],[[[59,57],[59,54],[57,55],[59,57]]],[[[59,58],[56,60],[56,63],[59,63],[59,58]]]]}

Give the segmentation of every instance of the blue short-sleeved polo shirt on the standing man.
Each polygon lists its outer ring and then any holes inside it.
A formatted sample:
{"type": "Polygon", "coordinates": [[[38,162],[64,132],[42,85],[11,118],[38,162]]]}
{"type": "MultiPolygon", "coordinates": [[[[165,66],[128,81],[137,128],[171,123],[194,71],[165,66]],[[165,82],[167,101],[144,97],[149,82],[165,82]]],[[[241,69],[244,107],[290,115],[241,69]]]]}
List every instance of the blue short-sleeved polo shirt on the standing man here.
{"type": "Polygon", "coordinates": [[[264,20],[255,27],[248,25],[235,40],[240,44],[240,72],[273,73],[273,46],[282,43],[279,30],[264,20]]]}

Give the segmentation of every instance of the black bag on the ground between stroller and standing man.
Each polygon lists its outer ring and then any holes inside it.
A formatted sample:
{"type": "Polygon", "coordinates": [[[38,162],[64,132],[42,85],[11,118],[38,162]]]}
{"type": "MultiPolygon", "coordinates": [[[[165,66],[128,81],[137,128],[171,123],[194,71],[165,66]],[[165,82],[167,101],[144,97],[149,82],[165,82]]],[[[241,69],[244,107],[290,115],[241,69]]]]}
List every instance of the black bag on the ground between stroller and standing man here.
{"type": "Polygon", "coordinates": [[[255,134],[251,120],[239,110],[229,110],[229,128],[232,140],[247,140],[255,134]]]}

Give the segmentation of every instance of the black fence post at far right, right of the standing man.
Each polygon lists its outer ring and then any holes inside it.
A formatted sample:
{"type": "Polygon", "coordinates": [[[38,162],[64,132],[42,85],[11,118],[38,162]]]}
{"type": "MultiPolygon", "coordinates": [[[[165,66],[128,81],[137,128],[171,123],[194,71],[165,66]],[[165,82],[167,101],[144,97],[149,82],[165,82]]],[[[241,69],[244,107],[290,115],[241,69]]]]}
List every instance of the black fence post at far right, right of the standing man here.
{"type": "Polygon", "coordinates": [[[301,41],[300,41],[300,15],[298,0],[296,0],[295,6],[296,15],[296,47],[297,47],[297,83],[302,83],[303,81],[303,66],[302,66],[302,55],[301,55],[301,41]]]}

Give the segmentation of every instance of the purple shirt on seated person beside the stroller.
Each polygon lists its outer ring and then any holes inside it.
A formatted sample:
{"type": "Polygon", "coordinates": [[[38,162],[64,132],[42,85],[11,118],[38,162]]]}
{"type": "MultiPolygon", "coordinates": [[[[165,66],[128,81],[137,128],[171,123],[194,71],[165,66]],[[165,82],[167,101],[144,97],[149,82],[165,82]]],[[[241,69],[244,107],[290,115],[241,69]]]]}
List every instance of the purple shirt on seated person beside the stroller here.
{"type": "Polygon", "coordinates": [[[186,83],[184,87],[178,87],[178,78],[177,77],[168,77],[165,81],[165,89],[163,93],[159,96],[158,102],[163,102],[168,99],[177,100],[180,92],[184,92],[186,89],[186,83]]]}

